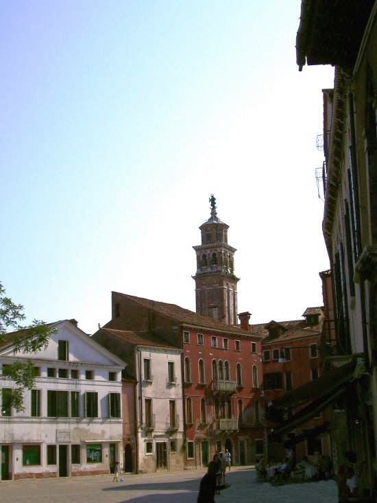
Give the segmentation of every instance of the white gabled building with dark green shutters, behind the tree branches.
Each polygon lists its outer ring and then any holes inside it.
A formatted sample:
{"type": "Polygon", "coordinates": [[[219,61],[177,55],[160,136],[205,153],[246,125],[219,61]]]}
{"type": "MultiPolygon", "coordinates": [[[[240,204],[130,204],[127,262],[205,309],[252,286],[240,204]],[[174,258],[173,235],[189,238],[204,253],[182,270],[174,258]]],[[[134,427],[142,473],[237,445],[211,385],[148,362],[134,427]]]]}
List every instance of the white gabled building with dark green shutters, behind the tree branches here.
{"type": "Polygon", "coordinates": [[[125,363],[77,327],[56,329],[46,349],[14,353],[12,334],[0,346],[1,480],[110,473],[123,467],[121,371],[125,363]],[[35,368],[23,412],[8,403],[16,385],[3,367],[29,359],[35,368]],[[5,374],[5,373],[4,373],[5,374]]]}

